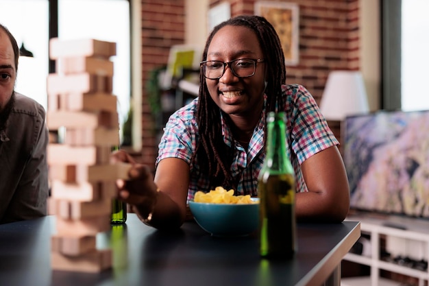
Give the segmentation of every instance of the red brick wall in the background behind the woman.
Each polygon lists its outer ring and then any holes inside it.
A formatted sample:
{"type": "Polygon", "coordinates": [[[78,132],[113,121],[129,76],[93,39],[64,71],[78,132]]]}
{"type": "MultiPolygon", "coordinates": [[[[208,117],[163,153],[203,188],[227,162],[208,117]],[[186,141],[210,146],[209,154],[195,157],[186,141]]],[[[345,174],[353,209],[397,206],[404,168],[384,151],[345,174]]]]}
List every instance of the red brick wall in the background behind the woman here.
{"type": "MultiPolygon", "coordinates": [[[[211,0],[210,7],[223,1],[211,0]]],[[[254,14],[255,0],[227,1],[232,16],[254,14]]],[[[330,71],[360,69],[359,0],[287,2],[299,4],[299,64],[286,67],[286,82],[303,84],[319,103],[330,71]]],[[[151,69],[167,64],[171,45],[184,43],[185,16],[184,0],[142,0],[143,86],[151,69]]],[[[142,156],[143,163],[153,166],[158,143],[151,126],[143,91],[142,156]]]]}

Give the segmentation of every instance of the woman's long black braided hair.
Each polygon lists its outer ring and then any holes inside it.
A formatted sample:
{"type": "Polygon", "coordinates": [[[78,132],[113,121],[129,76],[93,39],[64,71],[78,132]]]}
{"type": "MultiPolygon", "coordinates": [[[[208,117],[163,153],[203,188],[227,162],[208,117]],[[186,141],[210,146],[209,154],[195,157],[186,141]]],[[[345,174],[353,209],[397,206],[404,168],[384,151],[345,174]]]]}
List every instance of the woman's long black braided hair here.
{"type": "MultiPolygon", "coordinates": [[[[282,84],[286,81],[286,67],[282,45],[274,27],[261,16],[236,16],[217,25],[208,36],[202,60],[207,59],[208,47],[213,36],[227,25],[248,27],[256,34],[267,66],[267,95],[266,110],[276,111],[284,108],[282,84]],[[276,108],[277,107],[277,108],[276,108]]],[[[197,124],[199,142],[193,154],[193,163],[198,161],[202,174],[208,174],[211,187],[223,186],[225,189],[236,190],[237,182],[232,178],[230,167],[234,158],[234,145],[228,147],[223,143],[221,132],[221,110],[213,102],[206,84],[206,79],[200,71],[199,102],[197,107],[197,124]]]]}

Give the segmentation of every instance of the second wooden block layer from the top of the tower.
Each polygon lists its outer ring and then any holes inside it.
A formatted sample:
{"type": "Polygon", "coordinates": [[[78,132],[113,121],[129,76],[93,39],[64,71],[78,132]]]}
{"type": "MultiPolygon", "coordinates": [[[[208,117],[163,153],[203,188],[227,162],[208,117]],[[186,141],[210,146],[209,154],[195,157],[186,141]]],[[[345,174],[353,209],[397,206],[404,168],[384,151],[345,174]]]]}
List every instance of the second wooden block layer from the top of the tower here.
{"type": "Polygon", "coordinates": [[[103,58],[73,57],[57,60],[57,72],[65,75],[90,73],[92,75],[113,76],[113,62],[103,58]]]}

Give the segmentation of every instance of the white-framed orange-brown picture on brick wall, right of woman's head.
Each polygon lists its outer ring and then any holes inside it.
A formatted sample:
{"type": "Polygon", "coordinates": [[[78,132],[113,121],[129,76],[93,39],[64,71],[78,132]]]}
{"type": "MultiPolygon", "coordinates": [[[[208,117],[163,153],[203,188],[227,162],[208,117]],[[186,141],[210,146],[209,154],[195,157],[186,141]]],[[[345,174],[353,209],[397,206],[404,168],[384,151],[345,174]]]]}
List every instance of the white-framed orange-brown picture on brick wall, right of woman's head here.
{"type": "Polygon", "coordinates": [[[284,63],[299,63],[299,5],[297,3],[256,1],[255,14],[263,16],[277,32],[284,52],[284,63]]]}

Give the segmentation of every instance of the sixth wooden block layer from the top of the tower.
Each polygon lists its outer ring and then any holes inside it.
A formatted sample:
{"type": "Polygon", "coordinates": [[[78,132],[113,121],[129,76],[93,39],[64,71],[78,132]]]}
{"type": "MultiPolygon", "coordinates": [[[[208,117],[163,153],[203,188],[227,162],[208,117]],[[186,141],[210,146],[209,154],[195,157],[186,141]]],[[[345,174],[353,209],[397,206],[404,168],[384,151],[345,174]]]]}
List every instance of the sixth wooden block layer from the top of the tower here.
{"type": "Polygon", "coordinates": [[[119,128],[67,128],[65,144],[71,146],[117,146],[119,140],[119,128]]]}

